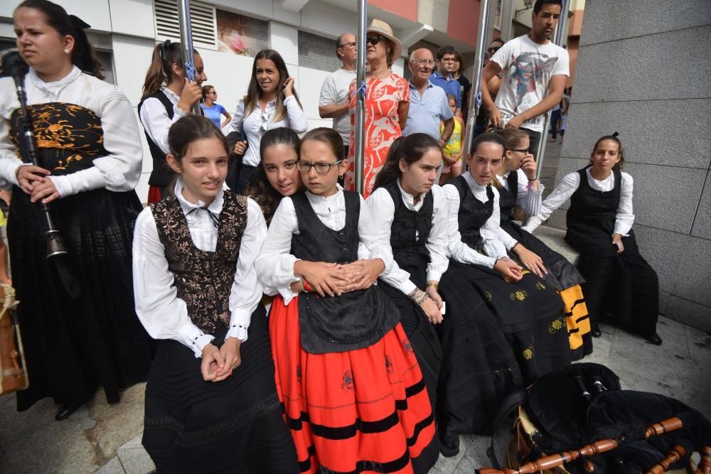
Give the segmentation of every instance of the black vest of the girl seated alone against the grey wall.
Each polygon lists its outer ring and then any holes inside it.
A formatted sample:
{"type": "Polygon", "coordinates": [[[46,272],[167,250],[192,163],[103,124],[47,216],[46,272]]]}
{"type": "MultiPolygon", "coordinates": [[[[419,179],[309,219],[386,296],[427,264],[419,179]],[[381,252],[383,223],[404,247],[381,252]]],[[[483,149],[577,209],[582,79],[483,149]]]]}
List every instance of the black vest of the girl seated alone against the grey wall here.
{"type": "Polygon", "coordinates": [[[602,192],[594,190],[587,181],[586,168],[578,171],[580,185],[570,196],[570,208],[566,215],[568,233],[586,234],[590,230],[602,230],[612,238],[615,228],[615,217],[620,203],[622,174],[612,170],[615,187],[602,192]]]}

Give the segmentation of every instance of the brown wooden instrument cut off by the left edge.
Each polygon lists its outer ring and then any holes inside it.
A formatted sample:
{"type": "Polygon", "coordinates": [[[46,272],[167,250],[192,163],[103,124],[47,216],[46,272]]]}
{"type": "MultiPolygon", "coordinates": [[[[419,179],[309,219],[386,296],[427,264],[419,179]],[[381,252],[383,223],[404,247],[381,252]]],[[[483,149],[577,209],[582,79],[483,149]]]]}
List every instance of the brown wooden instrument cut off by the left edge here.
{"type": "Polygon", "coordinates": [[[29,385],[22,335],[13,311],[17,303],[12,286],[0,285],[0,395],[29,385]]]}

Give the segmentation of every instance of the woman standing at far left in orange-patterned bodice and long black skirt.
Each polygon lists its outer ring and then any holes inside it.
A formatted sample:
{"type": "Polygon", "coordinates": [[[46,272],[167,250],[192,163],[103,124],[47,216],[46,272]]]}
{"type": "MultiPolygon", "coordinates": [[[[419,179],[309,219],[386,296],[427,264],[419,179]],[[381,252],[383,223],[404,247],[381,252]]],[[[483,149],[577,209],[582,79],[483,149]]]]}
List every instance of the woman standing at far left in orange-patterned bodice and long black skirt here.
{"type": "Polygon", "coordinates": [[[135,316],[131,288],[131,241],[141,210],[133,189],[143,153],[131,103],[100,80],[83,30],[88,25],[46,0],[24,1],[13,20],[30,66],[25,87],[41,163],[28,164],[20,104],[13,80],[4,77],[0,185],[12,188],[12,280],[31,374],[17,406],[26,410],[53,397],[59,420],[97,387],[109,403],[118,402],[119,389],[148,372],[150,338],[135,316]],[[41,203],[51,203],[66,257],[46,257],[41,203]],[[55,259],[65,259],[76,284],[57,274],[55,259]]]}

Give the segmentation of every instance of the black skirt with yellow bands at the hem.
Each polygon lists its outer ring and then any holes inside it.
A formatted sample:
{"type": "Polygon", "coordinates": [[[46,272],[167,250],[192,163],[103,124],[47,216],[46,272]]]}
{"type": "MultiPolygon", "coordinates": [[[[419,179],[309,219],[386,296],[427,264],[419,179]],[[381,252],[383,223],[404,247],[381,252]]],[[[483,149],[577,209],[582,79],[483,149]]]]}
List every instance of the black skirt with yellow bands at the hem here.
{"type": "Polygon", "coordinates": [[[587,302],[583,297],[584,291],[581,290],[585,282],[582,274],[565,257],[553,251],[538,237],[526,232],[515,222],[509,221],[501,228],[542,259],[547,270],[547,274],[543,276],[545,284],[558,291],[563,300],[572,360],[580,360],[591,354],[592,335],[587,302]]]}

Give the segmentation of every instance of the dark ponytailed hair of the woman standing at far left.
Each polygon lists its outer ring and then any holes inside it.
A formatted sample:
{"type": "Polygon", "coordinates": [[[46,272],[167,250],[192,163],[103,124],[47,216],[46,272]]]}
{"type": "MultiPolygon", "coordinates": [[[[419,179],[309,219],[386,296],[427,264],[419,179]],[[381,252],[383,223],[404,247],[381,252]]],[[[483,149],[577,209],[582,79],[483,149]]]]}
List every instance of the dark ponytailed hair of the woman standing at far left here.
{"type": "Polygon", "coordinates": [[[25,0],[17,6],[18,9],[34,9],[41,11],[45,22],[51,26],[60,36],[71,36],[74,38],[74,48],[72,50],[72,64],[97,79],[104,79],[104,68],[96,56],[94,48],[89,43],[87,33],[84,28],[90,28],[84,21],[74,15],[67,14],[67,11],[58,4],[53,4],[48,0],[25,0]]]}

